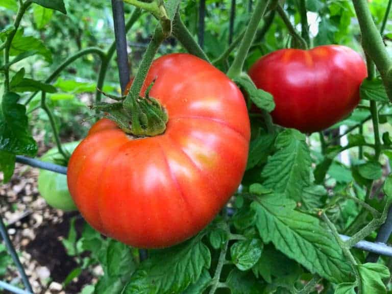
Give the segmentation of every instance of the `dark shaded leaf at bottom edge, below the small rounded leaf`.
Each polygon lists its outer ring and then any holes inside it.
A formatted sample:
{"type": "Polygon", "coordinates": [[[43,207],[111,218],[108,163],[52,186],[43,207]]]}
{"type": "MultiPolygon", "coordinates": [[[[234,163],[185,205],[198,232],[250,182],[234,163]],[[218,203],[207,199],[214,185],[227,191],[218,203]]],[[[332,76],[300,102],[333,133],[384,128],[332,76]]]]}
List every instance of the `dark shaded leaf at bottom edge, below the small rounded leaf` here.
{"type": "Polygon", "coordinates": [[[232,294],[259,294],[263,289],[263,283],[256,280],[252,272],[241,272],[237,268],[231,270],[226,284],[232,294]]]}

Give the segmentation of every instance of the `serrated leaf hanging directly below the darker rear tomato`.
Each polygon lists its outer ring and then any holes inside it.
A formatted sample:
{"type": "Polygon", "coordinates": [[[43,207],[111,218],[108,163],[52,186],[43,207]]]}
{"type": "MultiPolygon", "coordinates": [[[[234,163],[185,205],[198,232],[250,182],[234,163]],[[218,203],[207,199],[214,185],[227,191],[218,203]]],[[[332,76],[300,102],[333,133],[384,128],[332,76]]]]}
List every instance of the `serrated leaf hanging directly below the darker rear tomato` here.
{"type": "Polygon", "coordinates": [[[305,135],[297,130],[287,129],[276,140],[278,150],[268,158],[261,172],[266,188],[286,194],[300,202],[303,187],[310,185],[311,158],[305,135]]]}

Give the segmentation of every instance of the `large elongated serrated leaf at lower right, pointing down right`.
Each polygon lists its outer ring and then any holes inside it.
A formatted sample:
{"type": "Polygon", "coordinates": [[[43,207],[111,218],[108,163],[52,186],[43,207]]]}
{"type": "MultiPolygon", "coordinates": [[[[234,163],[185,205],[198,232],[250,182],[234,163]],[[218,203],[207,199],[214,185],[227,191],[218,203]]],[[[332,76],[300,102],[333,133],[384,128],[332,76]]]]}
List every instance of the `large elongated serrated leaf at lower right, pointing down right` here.
{"type": "Polygon", "coordinates": [[[296,203],[281,194],[259,197],[251,207],[257,212],[256,227],[264,243],[273,242],[279,251],[329,281],[350,279],[349,263],[318,218],[294,210],[296,203]]]}

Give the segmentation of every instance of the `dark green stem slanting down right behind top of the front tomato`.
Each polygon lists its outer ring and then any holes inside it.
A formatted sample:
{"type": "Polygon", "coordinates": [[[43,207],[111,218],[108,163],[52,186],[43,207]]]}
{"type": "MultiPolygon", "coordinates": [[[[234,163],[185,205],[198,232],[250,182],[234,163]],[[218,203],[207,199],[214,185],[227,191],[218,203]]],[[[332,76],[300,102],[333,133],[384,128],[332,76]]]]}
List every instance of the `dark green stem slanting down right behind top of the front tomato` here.
{"type": "Polygon", "coordinates": [[[177,40],[180,41],[180,43],[190,54],[210,62],[203,49],[194,40],[188,29],[185,27],[185,24],[178,12],[173,19],[173,35],[177,38],[177,40]]]}

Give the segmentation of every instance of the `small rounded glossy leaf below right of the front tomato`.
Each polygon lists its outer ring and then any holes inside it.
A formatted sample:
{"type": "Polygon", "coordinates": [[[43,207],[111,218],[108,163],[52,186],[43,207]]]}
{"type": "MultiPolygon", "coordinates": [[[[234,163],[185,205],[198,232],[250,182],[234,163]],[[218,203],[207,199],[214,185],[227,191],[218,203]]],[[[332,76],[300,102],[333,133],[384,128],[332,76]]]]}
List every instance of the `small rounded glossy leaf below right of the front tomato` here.
{"type": "Polygon", "coordinates": [[[259,260],[263,243],[259,239],[240,240],[230,248],[231,260],[240,271],[248,271],[259,260]]]}

